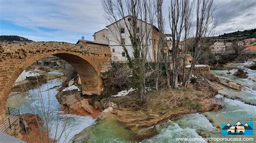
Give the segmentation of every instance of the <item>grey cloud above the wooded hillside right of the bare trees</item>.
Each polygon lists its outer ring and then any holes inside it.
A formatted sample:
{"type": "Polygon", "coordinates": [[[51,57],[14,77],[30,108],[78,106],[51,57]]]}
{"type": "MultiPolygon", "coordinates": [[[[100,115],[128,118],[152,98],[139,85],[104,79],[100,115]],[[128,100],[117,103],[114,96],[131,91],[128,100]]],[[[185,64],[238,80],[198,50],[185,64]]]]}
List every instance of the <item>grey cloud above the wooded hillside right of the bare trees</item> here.
{"type": "Polygon", "coordinates": [[[214,17],[218,20],[218,34],[255,28],[256,1],[221,1],[215,2],[214,17]]]}

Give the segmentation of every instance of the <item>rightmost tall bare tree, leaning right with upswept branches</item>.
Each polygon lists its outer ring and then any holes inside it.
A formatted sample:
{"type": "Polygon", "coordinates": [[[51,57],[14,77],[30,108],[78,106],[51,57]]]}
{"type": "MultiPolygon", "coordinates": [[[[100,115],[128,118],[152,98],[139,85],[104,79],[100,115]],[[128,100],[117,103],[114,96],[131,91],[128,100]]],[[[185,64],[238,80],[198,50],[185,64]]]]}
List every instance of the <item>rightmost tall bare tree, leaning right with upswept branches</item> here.
{"type": "Polygon", "coordinates": [[[211,37],[214,34],[215,27],[215,19],[212,16],[214,11],[213,0],[197,0],[195,11],[196,31],[193,38],[193,60],[190,70],[188,71],[185,87],[187,87],[187,84],[190,81],[194,65],[196,65],[197,61],[200,59],[201,51],[208,45],[208,37],[211,37]]]}

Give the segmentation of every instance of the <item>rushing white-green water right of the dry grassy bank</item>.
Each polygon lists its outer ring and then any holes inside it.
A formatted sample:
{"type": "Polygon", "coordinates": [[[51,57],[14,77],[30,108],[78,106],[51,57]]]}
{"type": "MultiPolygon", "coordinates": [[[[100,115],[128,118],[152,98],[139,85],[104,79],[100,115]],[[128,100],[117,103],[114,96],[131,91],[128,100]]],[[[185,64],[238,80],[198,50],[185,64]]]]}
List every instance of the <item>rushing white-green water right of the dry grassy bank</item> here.
{"type": "MultiPolygon", "coordinates": [[[[244,68],[246,64],[233,64],[232,66],[244,68]]],[[[228,96],[237,96],[249,103],[256,103],[256,82],[253,82],[252,79],[256,80],[256,70],[246,69],[248,72],[248,78],[238,78],[237,76],[232,75],[235,70],[231,71],[231,74],[227,74],[227,70],[212,70],[212,73],[216,76],[226,78],[227,80],[242,83],[245,85],[241,91],[233,90],[231,88],[224,88],[219,92],[221,94],[226,94],[228,96]]],[[[191,115],[180,116],[176,120],[168,121],[163,125],[159,126],[159,134],[145,142],[177,142],[176,138],[191,138],[197,137],[201,138],[199,135],[200,131],[207,133],[210,137],[221,138],[227,137],[231,138],[233,136],[221,135],[221,129],[213,127],[208,119],[213,121],[219,127],[221,124],[231,123],[232,125],[240,121],[242,124],[245,124],[247,121],[253,121],[254,132],[255,132],[255,121],[256,121],[256,106],[245,104],[241,101],[232,100],[224,98],[221,95],[215,96],[220,104],[224,105],[224,108],[220,111],[211,111],[205,112],[202,114],[196,113],[191,115]],[[206,118],[207,117],[207,118],[206,118]]],[[[253,137],[255,141],[255,135],[244,136],[236,135],[235,137],[253,137]]],[[[196,142],[196,141],[195,141],[196,142]]],[[[221,142],[221,141],[220,141],[221,142]]]]}

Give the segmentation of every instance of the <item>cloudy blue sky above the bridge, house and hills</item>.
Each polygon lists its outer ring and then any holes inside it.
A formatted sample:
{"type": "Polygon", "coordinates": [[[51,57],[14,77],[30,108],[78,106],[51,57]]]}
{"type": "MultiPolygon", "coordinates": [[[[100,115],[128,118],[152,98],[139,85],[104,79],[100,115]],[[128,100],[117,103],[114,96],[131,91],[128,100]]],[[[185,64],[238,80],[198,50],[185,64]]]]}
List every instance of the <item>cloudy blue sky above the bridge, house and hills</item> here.
{"type": "MultiPolygon", "coordinates": [[[[164,0],[168,13],[170,0],[164,0]]],[[[214,0],[217,34],[256,28],[256,0],[214,0]]],[[[76,43],[108,25],[100,0],[0,0],[0,35],[76,43]]]]}

